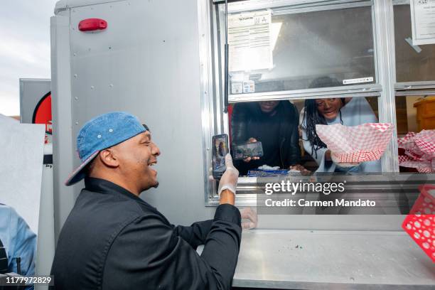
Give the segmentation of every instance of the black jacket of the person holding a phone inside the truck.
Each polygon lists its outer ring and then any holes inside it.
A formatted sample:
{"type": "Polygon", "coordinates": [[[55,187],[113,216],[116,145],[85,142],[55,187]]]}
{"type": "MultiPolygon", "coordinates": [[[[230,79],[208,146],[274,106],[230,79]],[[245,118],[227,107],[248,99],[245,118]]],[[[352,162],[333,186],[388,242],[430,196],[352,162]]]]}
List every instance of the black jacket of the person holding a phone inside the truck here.
{"type": "MultiPolygon", "coordinates": [[[[276,107],[276,114],[280,118],[279,136],[279,155],[281,168],[289,168],[301,162],[301,148],[299,147],[299,113],[294,104],[289,101],[280,101],[276,107]]],[[[232,146],[245,143],[249,137],[249,127],[258,122],[262,114],[257,102],[247,102],[235,104],[231,119],[232,146]]],[[[239,161],[240,163],[240,161],[239,161]]]]}

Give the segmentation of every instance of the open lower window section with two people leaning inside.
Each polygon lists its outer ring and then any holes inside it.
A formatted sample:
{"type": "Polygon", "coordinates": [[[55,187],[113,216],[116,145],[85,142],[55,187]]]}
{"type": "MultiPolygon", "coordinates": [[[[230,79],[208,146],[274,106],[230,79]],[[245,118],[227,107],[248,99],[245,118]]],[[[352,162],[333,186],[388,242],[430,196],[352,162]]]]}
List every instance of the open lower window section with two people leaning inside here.
{"type": "MultiPolygon", "coordinates": [[[[377,97],[343,97],[234,104],[229,109],[228,127],[235,166],[241,176],[286,175],[296,164],[311,172],[333,173],[335,170],[327,166],[331,159],[321,157],[325,150],[313,151],[318,136],[307,134],[307,128],[316,124],[376,122],[377,100],[377,97]],[[332,114],[335,119],[327,119],[332,114]],[[261,145],[254,146],[259,142],[261,145]]],[[[353,173],[379,173],[382,169],[380,161],[377,168],[363,167],[353,168],[353,173]]]]}

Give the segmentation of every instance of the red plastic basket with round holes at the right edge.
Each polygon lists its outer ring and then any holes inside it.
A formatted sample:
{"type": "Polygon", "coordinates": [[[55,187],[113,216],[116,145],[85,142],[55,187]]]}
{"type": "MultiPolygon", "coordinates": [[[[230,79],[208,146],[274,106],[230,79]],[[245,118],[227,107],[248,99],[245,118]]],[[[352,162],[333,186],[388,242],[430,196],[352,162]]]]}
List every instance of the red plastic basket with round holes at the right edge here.
{"type": "Polygon", "coordinates": [[[402,227],[435,263],[435,186],[419,186],[419,190],[419,198],[402,227]]]}

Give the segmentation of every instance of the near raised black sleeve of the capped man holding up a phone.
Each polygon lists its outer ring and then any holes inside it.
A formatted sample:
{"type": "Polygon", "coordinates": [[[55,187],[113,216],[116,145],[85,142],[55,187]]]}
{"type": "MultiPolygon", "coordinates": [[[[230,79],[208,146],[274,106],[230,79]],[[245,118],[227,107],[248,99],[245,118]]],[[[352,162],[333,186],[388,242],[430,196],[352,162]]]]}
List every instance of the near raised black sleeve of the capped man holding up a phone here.
{"type": "Polygon", "coordinates": [[[137,218],[108,250],[102,289],[231,289],[240,219],[235,206],[218,206],[200,256],[161,216],[137,218]]]}

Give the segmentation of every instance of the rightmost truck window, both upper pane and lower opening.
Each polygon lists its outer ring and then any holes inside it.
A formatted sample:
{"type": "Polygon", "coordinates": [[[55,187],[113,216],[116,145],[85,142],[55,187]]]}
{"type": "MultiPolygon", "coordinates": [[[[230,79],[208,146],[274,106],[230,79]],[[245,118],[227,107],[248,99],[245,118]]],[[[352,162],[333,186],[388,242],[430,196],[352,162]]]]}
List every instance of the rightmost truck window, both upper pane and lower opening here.
{"type": "Polygon", "coordinates": [[[409,154],[401,140],[424,137],[435,129],[435,44],[413,45],[409,1],[393,1],[396,55],[395,112],[399,138],[399,171],[430,173],[426,159],[409,154]],[[426,131],[428,132],[428,131],[426,131]]]}

